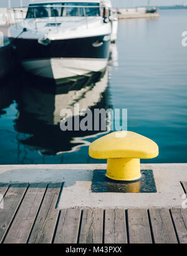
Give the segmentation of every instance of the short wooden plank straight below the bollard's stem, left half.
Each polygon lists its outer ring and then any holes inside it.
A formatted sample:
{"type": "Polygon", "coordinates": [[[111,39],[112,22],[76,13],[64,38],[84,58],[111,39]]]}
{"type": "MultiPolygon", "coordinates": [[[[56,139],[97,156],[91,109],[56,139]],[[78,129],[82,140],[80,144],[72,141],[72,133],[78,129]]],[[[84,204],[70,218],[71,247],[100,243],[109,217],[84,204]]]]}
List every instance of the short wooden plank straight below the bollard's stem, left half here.
{"type": "Polygon", "coordinates": [[[127,244],[124,209],[105,210],[105,244],[127,244]]]}

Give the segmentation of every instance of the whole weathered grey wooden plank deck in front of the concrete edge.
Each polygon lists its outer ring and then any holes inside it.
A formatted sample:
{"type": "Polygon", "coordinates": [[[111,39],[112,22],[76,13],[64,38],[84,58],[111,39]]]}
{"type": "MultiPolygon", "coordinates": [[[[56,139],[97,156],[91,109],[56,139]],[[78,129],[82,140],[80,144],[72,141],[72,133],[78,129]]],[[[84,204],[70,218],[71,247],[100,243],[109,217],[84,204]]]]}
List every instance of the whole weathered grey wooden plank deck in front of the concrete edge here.
{"type": "Polygon", "coordinates": [[[187,243],[187,209],[58,209],[62,189],[62,183],[0,184],[1,243],[187,243]]]}

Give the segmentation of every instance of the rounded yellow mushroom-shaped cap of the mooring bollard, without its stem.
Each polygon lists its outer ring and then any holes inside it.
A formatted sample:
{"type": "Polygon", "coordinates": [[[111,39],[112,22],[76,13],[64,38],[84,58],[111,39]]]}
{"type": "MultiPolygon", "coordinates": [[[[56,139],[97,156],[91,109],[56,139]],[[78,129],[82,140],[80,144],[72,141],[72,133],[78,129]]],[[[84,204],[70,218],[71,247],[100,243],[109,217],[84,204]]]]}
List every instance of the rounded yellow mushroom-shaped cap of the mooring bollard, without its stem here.
{"type": "Polygon", "coordinates": [[[89,155],[95,159],[151,159],[158,156],[158,145],[135,132],[112,132],[92,142],[89,155]]]}

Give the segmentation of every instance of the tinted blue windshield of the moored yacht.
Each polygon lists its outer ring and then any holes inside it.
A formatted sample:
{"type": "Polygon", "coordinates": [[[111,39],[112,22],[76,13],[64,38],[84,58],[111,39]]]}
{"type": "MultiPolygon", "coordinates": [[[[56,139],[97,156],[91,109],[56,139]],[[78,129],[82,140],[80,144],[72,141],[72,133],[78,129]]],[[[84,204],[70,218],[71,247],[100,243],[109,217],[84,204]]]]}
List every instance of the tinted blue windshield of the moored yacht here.
{"type": "Polygon", "coordinates": [[[26,18],[30,19],[34,17],[64,17],[85,15],[100,16],[99,3],[57,2],[52,4],[30,4],[26,18]]]}

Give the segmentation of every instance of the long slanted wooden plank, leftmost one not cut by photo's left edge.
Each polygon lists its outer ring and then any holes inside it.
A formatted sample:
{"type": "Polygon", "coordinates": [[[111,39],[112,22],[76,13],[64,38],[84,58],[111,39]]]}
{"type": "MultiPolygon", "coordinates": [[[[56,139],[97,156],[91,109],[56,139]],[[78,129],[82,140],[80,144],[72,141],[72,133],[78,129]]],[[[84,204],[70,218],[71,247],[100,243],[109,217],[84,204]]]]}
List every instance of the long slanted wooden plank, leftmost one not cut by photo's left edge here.
{"type": "Polygon", "coordinates": [[[31,184],[4,239],[4,244],[26,244],[47,184],[31,184]]]}

